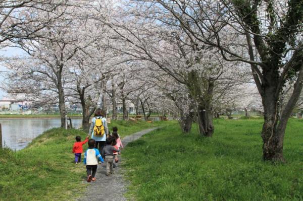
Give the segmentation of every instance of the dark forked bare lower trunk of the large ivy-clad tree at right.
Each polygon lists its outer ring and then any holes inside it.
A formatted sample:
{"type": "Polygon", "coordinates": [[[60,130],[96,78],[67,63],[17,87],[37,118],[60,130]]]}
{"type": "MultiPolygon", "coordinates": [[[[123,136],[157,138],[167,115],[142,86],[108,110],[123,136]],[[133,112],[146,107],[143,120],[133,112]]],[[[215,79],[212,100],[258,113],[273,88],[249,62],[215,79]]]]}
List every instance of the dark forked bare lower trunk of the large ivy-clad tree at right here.
{"type": "MultiPolygon", "coordinates": [[[[293,92],[289,98],[282,114],[281,119],[278,118],[278,100],[275,96],[277,90],[277,79],[273,72],[268,73],[267,85],[264,87],[262,96],[264,106],[264,124],[262,130],[263,139],[263,159],[270,161],[284,161],[283,159],[283,140],[287,121],[291,115],[293,108],[300,96],[303,80],[303,64],[301,64],[299,75],[294,84],[293,92]]],[[[266,74],[265,74],[266,75],[266,74]]]]}

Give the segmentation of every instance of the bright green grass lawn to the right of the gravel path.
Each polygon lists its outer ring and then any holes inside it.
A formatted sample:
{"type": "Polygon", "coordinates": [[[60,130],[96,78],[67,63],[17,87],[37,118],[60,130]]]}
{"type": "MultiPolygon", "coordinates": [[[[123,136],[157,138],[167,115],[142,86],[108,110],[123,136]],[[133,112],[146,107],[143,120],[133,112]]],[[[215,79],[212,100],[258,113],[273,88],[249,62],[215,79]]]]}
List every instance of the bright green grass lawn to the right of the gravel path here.
{"type": "Polygon", "coordinates": [[[302,120],[290,119],[285,164],[262,161],[262,119],[214,121],[213,138],[177,124],[128,144],[124,167],[136,200],[302,200],[302,120]]]}

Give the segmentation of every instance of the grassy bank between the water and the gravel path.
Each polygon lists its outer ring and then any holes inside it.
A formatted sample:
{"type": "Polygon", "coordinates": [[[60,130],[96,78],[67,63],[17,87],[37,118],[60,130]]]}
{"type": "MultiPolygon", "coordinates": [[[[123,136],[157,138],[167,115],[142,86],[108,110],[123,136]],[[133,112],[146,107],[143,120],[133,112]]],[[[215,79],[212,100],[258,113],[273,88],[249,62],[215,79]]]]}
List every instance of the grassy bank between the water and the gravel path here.
{"type": "MultiPolygon", "coordinates": [[[[124,137],[163,123],[112,121],[109,128],[118,126],[124,137]]],[[[0,149],[0,200],[75,200],[85,190],[86,175],[83,164],[73,164],[77,135],[84,140],[86,133],[54,128],[24,150],[0,149]]]]}

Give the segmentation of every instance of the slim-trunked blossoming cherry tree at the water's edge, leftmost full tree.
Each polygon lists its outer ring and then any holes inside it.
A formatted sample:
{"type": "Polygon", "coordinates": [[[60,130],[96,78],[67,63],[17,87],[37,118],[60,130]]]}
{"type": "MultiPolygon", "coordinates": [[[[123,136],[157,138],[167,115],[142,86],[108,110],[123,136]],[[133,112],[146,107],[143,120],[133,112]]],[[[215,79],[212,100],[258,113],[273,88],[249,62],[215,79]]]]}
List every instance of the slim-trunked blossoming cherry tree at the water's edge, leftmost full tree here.
{"type": "MultiPolygon", "coordinates": [[[[85,12],[82,8],[69,8],[71,13],[85,12]],[[78,9],[78,12],[75,10],[78,9]]],[[[65,127],[66,115],[66,95],[64,88],[68,86],[69,67],[73,66],[73,57],[79,56],[79,52],[88,56],[86,49],[95,45],[95,35],[91,35],[90,28],[87,25],[87,16],[83,18],[71,18],[70,14],[62,15],[61,21],[55,21],[47,26],[47,29],[41,30],[44,38],[36,38],[35,40],[23,42],[22,48],[29,55],[28,61],[32,60],[32,65],[22,69],[25,76],[18,77],[17,80],[28,83],[28,80],[37,79],[44,81],[43,87],[28,86],[28,89],[39,91],[52,91],[58,94],[59,108],[61,114],[61,126],[65,127]],[[93,36],[93,37],[92,37],[93,36]],[[20,80],[22,79],[22,80],[20,80]]],[[[98,36],[98,35],[97,35],[98,36]]],[[[20,70],[20,65],[12,66],[12,73],[20,70]]],[[[12,78],[12,77],[11,77],[12,78]]],[[[26,86],[26,85],[24,85],[26,86]]]]}

